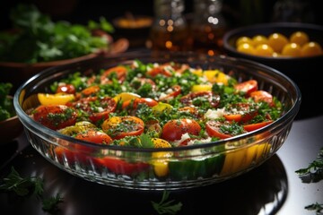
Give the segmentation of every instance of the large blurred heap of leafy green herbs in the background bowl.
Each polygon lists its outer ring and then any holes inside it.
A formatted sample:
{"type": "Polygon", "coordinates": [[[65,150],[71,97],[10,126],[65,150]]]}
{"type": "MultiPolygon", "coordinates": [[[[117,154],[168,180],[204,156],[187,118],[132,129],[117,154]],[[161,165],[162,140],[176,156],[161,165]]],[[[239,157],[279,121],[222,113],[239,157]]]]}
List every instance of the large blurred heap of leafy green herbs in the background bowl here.
{"type": "Polygon", "coordinates": [[[17,4],[10,18],[13,30],[0,32],[0,61],[33,64],[85,56],[108,50],[110,41],[102,33],[114,32],[104,17],[87,26],[53,22],[33,4],[17,4]]]}

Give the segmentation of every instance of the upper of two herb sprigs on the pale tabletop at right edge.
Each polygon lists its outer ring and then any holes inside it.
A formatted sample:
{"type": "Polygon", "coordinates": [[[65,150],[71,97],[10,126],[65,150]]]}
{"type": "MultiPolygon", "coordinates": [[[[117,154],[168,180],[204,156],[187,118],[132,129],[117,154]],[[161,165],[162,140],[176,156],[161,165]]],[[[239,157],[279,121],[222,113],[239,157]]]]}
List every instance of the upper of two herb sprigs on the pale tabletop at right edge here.
{"type": "Polygon", "coordinates": [[[323,179],[323,148],[319,150],[317,159],[310,162],[307,168],[300,168],[295,171],[303,182],[306,182],[306,176],[310,177],[309,182],[319,182],[323,179]]]}

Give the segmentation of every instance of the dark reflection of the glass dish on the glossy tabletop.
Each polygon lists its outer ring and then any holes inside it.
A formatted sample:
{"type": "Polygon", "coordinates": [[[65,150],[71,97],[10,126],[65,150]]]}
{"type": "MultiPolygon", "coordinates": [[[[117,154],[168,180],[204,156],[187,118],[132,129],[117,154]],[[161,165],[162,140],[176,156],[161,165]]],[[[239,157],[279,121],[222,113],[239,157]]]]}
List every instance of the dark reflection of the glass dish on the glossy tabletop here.
{"type": "MultiPolygon", "coordinates": [[[[123,213],[129,208],[142,214],[156,214],[151,201],[160,202],[162,199],[162,191],[115,188],[71,176],[48,163],[30,145],[2,169],[1,177],[11,167],[21,176],[43,177],[48,195],[62,194],[64,202],[59,204],[59,208],[63,214],[106,214],[112,209],[123,213]]],[[[274,155],[260,167],[223,183],[170,191],[170,200],[182,203],[178,214],[205,214],[214,210],[217,214],[274,214],[284,203],[286,195],[284,166],[274,155]]],[[[34,198],[19,198],[18,201],[17,197],[7,193],[0,193],[0,205],[4,212],[22,215],[41,211],[41,203],[34,198]]]]}

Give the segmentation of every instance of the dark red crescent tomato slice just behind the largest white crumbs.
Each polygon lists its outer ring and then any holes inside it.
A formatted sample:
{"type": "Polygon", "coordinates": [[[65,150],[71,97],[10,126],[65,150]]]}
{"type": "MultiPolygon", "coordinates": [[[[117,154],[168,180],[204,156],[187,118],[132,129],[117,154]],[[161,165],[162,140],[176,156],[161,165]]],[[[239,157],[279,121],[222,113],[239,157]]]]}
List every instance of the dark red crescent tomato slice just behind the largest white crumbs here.
{"type": "Polygon", "coordinates": [[[220,96],[215,95],[212,91],[196,91],[188,93],[188,95],[185,95],[182,98],[180,98],[180,102],[189,107],[198,106],[196,104],[193,104],[194,99],[197,98],[203,98],[208,100],[212,107],[217,107],[220,103],[220,96]]]}

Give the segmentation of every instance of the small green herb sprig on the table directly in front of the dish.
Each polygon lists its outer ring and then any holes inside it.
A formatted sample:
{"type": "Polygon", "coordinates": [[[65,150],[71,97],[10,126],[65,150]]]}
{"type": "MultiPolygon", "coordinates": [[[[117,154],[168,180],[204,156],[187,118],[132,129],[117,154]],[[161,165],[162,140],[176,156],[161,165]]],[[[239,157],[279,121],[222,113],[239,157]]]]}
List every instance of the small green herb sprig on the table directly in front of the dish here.
{"type": "Polygon", "coordinates": [[[152,202],[153,209],[158,212],[158,214],[176,214],[180,211],[182,203],[174,203],[173,200],[168,201],[170,192],[164,191],[162,193],[161,202],[152,202]]]}

